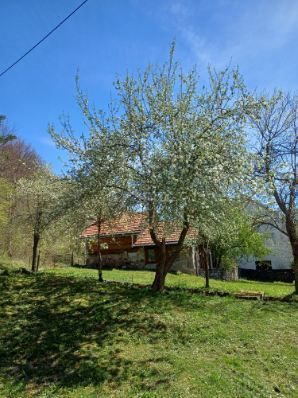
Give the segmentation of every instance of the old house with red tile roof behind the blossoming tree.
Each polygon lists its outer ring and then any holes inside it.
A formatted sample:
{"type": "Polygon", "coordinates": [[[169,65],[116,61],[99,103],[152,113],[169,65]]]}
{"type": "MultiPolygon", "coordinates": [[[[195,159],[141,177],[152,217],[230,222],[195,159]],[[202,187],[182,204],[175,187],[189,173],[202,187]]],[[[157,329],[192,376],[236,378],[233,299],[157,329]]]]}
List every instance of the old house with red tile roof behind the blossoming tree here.
{"type": "MultiPolygon", "coordinates": [[[[159,229],[162,226],[161,223],[159,229]]],[[[177,246],[179,233],[180,230],[173,228],[165,234],[168,254],[177,246]]],[[[188,236],[191,233],[193,230],[188,236]]],[[[89,225],[81,237],[85,240],[86,265],[95,265],[98,257],[97,223],[89,225]]],[[[158,250],[151,239],[143,213],[124,213],[119,218],[102,222],[99,241],[104,267],[155,269],[158,263],[158,250]]],[[[199,267],[198,258],[198,248],[186,242],[171,269],[195,274],[199,267]]]]}

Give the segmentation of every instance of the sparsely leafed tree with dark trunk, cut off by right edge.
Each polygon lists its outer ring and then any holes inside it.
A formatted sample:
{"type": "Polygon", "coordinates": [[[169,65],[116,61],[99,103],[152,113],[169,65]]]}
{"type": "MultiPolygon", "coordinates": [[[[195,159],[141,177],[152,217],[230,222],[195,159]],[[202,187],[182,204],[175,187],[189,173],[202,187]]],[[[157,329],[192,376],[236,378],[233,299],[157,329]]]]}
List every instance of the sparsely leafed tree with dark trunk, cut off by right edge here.
{"type": "Polygon", "coordinates": [[[294,257],[295,292],[298,293],[297,96],[275,92],[255,113],[252,124],[257,138],[256,174],[273,199],[267,216],[260,222],[288,236],[294,257]]]}

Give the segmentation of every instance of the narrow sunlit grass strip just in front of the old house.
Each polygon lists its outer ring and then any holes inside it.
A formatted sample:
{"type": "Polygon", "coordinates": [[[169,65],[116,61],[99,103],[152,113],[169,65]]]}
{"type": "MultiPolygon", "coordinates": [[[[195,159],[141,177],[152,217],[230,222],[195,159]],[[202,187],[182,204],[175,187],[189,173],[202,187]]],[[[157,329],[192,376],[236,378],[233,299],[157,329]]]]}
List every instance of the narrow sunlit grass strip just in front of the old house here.
{"type": "MultiPolygon", "coordinates": [[[[85,276],[97,278],[97,271],[93,269],[80,269],[80,268],[57,268],[50,270],[58,275],[64,276],[85,276]]],[[[148,285],[153,281],[154,273],[150,271],[125,271],[114,269],[112,271],[103,271],[103,276],[108,281],[116,282],[129,282],[148,285]]],[[[166,279],[167,286],[178,286],[178,287],[189,287],[189,288],[200,288],[204,286],[204,278],[197,277],[194,275],[187,274],[168,274],[166,279]]],[[[282,297],[293,293],[294,284],[283,283],[283,282],[255,282],[255,281],[231,281],[225,282],[220,280],[210,280],[210,286],[214,289],[239,292],[244,291],[261,291],[268,296],[282,297]]]]}

